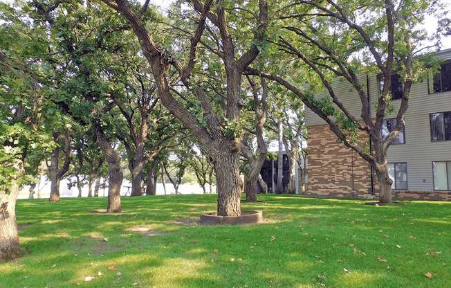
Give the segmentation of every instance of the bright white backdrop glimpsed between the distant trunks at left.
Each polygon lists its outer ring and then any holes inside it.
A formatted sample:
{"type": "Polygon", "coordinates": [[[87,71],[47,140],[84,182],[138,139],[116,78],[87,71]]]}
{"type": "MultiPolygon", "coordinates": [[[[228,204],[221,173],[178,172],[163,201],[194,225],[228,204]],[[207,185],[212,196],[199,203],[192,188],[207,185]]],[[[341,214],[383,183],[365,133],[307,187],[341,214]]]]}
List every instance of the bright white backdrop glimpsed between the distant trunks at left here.
{"type": "MultiPolygon", "coordinates": [[[[71,187],[68,188],[68,180],[63,179],[61,181],[61,184],[59,185],[59,195],[61,197],[77,197],[78,196],[78,189],[77,187],[71,187]]],[[[28,188],[30,186],[24,186],[24,189],[21,190],[19,194],[19,199],[27,199],[28,198],[28,188]]],[[[50,181],[48,179],[45,179],[45,177],[42,177],[39,187],[41,190],[40,198],[48,198],[50,195],[50,181]]],[[[205,186],[207,193],[209,193],[208,185],[205,186]]],[[[215,191],[215,186],[213,186],[213,192],[215,191]]],[[[37,191],[37,188],[35,188],[35,191],[37,191]]],[[[122,181],[122,187],[120,188],[120,195],[126,196],[130,195],[131,192],[131,182],[124,179],[122,181]]],[[[181,194],[202,194],[203,190],[201,186],[197,183],[186,183],[181,184],[178,187],[178,192],[181,194]]],[[[165,195],[165,190],[163,189],[163,183],[157,183],[156,184],[156,194],[157,195],[165,195]]],[[[166,183],[166,194],[171,195],[175,194],[174,186],[172,186],[172,183],[166,183]]],[[[108,195],[108,188],[99,189],[99,196],[107,196],[108,195]]],[[[82,197],[88,196],[88,186],[82,187],[82,197]]],[[[37,192],[35,192],[35,198],[37,198],[37,192]]]]}

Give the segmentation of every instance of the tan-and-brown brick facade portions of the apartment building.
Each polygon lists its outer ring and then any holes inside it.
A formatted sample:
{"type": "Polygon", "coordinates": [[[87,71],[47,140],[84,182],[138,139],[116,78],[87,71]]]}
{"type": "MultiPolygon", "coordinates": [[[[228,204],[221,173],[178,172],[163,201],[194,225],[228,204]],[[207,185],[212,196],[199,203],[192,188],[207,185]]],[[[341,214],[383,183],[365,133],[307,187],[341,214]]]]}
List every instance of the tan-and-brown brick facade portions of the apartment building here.
{"type": "MultiPolygon", "coordinates": [[[[306,193],[317,197],[377,197],[377,179],[374,177],[374,192],[371,195],[371,168],[356,152],[338,143],[337,136],[329,125],[307,128],[308,181],[306,193]]],[[[364,146],[366,134],[360,134],[359,142],[364,146]]],[[[448,192],[394,191],[394,199],[451,201],[448,192]]]]}

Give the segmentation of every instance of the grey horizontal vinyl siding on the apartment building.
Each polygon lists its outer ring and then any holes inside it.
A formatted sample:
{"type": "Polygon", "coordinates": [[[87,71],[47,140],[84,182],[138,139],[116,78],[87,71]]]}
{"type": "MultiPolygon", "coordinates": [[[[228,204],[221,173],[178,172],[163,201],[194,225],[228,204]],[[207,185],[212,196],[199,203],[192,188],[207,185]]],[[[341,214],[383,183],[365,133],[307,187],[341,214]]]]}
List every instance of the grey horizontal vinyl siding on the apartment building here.
{"type": "MultiPolygon", "coordinates": [[[[451,49],[437,54],[443,60],[451,59],[451,49]]],[[[360,78],[364,78],[362,76],[360,78]]],[[[366,83],[366,80],[365,80],[366,83]]],[[[369,76],[371,114],[378,96],[376,75],[369,76]]],[[[358,94],[350,89],[344,80],[335,80],[333,88],[338,98],[351,114],[360,118],[361,103],[358,94]]],[[[318,96],[320,97],[320,96],[318,96]]],[[[392,101],[394,112],[387,118],[396,116],[401,100],[392,101]]],[[[451,91],[429,94],[427,81],[412,85],[409,108],[405,114],[405,144],[391,145],[388,150],[388,162],[407,162],[407,185],[411,191],[434,190],[432,161],[451,161],[451,141],[432,142],[430,137],[430,114],[451,111],[451,91]]],[[[313,111],[306,109],[306,125],[324,125],[325,122],[313,111]]]]}

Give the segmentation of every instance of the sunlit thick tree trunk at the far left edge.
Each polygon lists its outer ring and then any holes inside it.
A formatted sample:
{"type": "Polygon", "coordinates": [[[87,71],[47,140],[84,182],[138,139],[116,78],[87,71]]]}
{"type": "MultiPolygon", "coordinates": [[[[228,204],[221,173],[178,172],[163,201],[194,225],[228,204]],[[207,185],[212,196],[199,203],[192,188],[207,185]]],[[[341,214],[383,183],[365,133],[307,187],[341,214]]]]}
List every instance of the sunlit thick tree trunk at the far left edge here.
{"type": "Polygon", "coordinates": [[[19,257],[19,233],[16,200],[19,187],[13,184],[10,194],[0,191],[0,262],[19,257]]]}

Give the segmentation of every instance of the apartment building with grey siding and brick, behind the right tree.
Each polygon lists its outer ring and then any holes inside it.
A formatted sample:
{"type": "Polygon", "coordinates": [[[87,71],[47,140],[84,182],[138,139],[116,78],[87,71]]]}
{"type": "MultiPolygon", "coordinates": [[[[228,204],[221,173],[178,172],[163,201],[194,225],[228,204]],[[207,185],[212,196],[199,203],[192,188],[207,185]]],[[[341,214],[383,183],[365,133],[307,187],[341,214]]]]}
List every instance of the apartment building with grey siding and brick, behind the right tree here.
{"type": "MultiPolygon", "coordinates": [[[[398,199],[451,200],[451,49],[440,51],[439,73],[412,85],[405,129],[388,150],[389,174],[398,199]]],[[[374,109],[380,87],[377,75],[360,75],[374,109]]],[[[360,99],[349,82],[337,78],[333,89],[344,107],[360,117],[360,99]]],[[[396,112],[403,95],[398,75],[392,76],[393,111],[387,115],[383,134],[396,124],[396,112]]],[[[318,97],[328,96],[328,94],[318,97]]],[[[308,127],[308,171],[306,191],[311,195],[371,197],[377,194],[377,179],[370,165],[338,143],[324,120],[306,110],[308,127]]],[[[365,134],[359,138],[365,145],[365,134]]]]}

